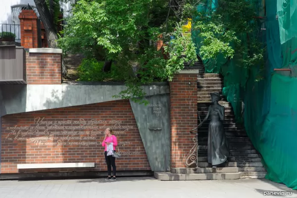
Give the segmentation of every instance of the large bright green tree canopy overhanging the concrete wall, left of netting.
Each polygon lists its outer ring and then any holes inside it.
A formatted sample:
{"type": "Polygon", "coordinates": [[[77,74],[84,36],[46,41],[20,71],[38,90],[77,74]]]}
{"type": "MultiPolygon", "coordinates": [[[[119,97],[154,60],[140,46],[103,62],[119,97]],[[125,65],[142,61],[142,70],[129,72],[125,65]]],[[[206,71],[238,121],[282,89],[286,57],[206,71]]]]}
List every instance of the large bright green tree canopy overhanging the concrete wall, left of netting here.
{"type": "Polygon", "coordinates": [[[59,45],[65,52],[114,60],[115,66],[130,69],[125,78],[128,89],[115,97],[146,102],[141,85],[170,80],[184,61],[197,59],[191,38],[182,35],[187,17],[177,16],[168,5],[167,0],[79,0],[59,45]],[[169,59],[156,50],[160,35],[168,42],[164,53],[169,59]]]}

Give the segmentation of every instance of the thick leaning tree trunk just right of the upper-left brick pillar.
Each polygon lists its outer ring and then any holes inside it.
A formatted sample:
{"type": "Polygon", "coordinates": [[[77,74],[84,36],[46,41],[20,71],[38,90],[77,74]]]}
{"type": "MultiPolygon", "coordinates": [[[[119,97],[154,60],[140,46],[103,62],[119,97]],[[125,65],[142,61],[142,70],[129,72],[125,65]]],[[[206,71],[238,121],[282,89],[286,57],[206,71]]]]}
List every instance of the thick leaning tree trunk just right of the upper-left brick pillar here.
{"type": "MultiPolygon", "coordinates": [[[[56,32],[53,18],[49,12],[49,7],[45,0],[34,0],[38,13],[45,26],[49,48],[57,48],[58,35],[56,32]]],[[[67,68],[62,59],[62,75],[67,76],[67,68]]]]}

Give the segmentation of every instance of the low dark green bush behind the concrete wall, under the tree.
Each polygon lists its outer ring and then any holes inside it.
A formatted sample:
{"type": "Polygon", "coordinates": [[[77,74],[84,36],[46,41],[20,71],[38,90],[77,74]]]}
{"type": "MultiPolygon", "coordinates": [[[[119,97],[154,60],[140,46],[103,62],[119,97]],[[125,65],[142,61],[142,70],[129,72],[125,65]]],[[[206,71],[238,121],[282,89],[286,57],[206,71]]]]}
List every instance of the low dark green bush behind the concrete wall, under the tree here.
{"type": "Polygon", "coordinates": [[[128,70],[118,65],[111,65],[110,72],[103,72],[104,61],[95,58],[83,59],[77,68],[78,81],[125,81],[128,70]]]}

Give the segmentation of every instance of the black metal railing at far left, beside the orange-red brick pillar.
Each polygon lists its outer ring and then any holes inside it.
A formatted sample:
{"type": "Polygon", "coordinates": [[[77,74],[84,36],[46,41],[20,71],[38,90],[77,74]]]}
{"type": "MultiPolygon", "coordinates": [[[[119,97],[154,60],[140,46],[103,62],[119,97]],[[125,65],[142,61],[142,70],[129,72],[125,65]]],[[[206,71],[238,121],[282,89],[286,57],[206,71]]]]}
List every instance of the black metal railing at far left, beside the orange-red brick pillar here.
{"type": "Polygon", "coordinates": [[[0,24],[0,41],[21,42],[20,24],[0,24]]]}

